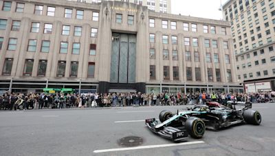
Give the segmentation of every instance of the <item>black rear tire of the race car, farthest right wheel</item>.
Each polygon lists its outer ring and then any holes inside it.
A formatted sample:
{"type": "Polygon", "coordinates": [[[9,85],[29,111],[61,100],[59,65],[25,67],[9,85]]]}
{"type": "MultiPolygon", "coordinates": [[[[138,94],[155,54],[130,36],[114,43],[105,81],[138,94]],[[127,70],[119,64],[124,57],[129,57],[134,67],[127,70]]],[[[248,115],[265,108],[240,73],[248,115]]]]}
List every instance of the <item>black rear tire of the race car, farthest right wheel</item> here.
{"type": "Polygon", "coordinates": [[[245,122],[252,124],[252,125],[260,125],[262,121],[261,114],[255,110],[245,110],[243,112],[243,118],[245,122]]]}

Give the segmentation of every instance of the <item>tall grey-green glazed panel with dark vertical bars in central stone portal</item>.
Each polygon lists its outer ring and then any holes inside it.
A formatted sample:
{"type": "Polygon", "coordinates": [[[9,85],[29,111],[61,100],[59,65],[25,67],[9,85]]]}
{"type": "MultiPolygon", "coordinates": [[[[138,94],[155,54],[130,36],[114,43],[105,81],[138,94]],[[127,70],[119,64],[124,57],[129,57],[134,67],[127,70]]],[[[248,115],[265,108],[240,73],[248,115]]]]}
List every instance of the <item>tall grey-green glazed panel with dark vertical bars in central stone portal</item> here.
{"type": "Polygon", "coordinates": [[[136,36],[113,33],[111,83],[135,83],[136,36]]]}

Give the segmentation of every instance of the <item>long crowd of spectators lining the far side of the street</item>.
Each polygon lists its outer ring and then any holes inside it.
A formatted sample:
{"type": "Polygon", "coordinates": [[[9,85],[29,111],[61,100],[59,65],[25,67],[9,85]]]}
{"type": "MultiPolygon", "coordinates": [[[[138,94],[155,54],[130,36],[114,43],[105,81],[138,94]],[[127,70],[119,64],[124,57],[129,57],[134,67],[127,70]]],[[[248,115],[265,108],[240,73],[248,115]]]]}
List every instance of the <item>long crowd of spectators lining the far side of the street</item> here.
{"type": "Polygon", "coordinates": [[[275,102],[275,92],[259,93],[214,93],[206,92],[177,93],[177,94],[143,94],[137,93],[88,93],[88,94],[15,94],[5,92],[0,95],[0,109],[43,109],[65,107],[125,107],[131,105],[190,105],[204,104],[205,101],[250,101],[252,103],[275,102]]]}

